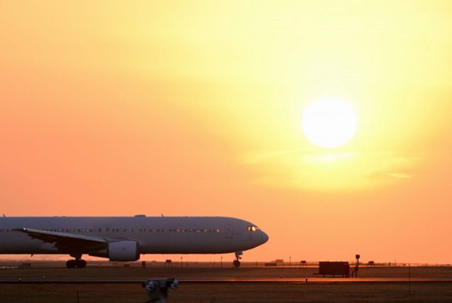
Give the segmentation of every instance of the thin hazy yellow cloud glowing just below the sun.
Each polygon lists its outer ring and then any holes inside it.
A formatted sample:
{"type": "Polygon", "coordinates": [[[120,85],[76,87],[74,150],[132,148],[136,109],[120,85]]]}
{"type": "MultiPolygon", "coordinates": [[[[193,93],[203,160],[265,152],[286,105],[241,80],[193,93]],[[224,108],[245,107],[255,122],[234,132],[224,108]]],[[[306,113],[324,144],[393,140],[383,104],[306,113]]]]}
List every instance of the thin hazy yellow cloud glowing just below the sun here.
{"type": "Polygon", "coordinates": [[[334,152],[306,148],[253,155],[248,160],[258,171],[259,183],[324,191],[378,187],[414,177],[421,157],[392,152],[334,152]]]}

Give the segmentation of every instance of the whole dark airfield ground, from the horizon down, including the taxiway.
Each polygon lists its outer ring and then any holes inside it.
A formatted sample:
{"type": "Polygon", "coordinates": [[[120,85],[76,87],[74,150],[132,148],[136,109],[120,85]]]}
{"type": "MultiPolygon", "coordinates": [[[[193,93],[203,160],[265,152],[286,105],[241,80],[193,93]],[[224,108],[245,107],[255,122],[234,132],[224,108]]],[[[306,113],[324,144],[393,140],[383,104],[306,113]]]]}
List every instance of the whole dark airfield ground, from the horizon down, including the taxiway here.
{"type": "Polygon", "coordinates": [[[45,283],[45,280],[145,281],[151,277],[181,280],[177,290],[170,290],[166,302],[452,302],[452,267],[360,268],[358,279],[348,279],[351,282],[342,282],[344,279],[322,282],[314,275],[318,268],[165,268],[164,265],[140,268],[132,265],[130,268],[67,269],[33,265],[27,269],[0,269],[0,280],[10,281],[0,283],[0,302],[146,302],[147,292],[140,282],[45,283]],[[11,283],[19,278],[44,283],[11,283]],[[299,280],[291,282],[292,278],[299,280]],[[403,278],[404,282],[366,282],[368,278],[403,278]],[[209,279],[213,282],[197,281],[209,279]],[[218,282],[235,279],[272,282],[218,282]]]}

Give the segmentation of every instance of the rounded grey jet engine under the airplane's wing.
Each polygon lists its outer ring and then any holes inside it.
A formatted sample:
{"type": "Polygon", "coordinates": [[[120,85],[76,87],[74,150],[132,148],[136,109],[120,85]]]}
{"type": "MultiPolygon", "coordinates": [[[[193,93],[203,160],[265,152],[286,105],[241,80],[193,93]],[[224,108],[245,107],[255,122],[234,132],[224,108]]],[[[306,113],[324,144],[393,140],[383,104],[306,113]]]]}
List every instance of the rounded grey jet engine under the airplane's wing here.
{"type": "Polygon", "coordinates": [[[140,258],[136,241],[111,242],[106,249],[90,251],[89,255],[122,262],[136,261],[140,258]]]}

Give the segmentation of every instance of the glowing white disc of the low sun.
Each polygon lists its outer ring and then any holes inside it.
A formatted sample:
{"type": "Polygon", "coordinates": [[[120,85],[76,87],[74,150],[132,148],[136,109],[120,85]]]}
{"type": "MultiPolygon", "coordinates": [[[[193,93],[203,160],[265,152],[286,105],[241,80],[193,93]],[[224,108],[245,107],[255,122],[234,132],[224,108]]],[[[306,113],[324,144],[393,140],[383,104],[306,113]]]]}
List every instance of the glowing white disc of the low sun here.
{"type": "Polygon", "coordinates": [[[355,135],[358,121],[352,107],[339,99],[321,99],[304,111],[302,128],[309,141],[323,148],[344,145],[355,135]]]}

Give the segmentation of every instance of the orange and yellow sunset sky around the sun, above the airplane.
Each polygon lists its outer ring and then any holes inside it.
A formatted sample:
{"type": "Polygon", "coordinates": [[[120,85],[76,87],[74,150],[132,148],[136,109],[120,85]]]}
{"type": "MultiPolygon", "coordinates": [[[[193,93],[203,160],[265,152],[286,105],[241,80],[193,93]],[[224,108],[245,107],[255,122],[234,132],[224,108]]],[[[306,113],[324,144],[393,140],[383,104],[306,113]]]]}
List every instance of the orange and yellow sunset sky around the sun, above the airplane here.
{"type": "Polygon", "coordinates": [[[450,1],[0,1],[0,28],[7,216],[234,216],[270,236],[245,261],[451,263],[450,1]],[[339,148],[302,132],[325,97],[358,118],[339,148]]]}

